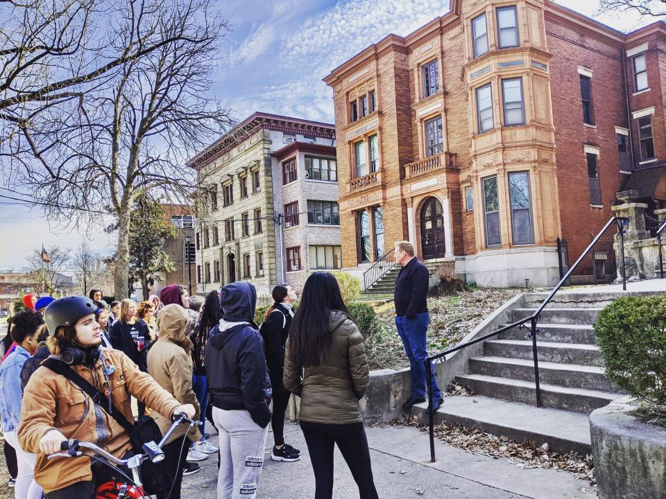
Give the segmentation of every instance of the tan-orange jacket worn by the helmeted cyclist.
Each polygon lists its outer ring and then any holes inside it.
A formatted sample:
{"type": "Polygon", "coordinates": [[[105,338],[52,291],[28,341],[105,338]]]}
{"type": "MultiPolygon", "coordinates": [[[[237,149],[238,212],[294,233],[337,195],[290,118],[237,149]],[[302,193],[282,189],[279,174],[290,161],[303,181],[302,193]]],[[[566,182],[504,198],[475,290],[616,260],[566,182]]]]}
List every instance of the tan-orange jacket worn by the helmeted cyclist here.
{"type": "MultiPolygon", "coordinates": [[[[132,421],[130,395],[160,414],[169,415],[180,405],[151,376],[139,371],[123,352],[104,349],[103,356],[114,367],[109,376],[111,400],[128,421],[132,421]]],[[[94,369],[83,366],[73,369],[98,389],[108,389],[102,360],[97,361],[94,369]]],[[[46,493],[92,480],[89,458],[56,458],[49,461],[45,454],[40,453],[40,439],[51,428],[58,429],[67,439],[103,445],[117,457],[123,456],[131,447],[125,430],[105,411],[96,408],[89,396],[67,378],[48,367],[40,367],[31,376],[24,391],[18,435],[21,447],[37,455],[35,480],[46,493]]]]}

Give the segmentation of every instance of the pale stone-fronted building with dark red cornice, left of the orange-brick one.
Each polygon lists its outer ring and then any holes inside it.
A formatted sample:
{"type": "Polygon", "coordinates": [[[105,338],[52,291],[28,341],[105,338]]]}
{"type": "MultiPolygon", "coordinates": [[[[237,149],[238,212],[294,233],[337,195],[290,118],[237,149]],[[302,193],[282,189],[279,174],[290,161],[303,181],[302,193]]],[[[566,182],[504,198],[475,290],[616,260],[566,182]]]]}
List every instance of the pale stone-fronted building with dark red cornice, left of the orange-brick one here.
{"type": "Polygon", "coordinates": [[[339,255],[339,229],[311,228],[308,210],[327,203],[337,215],[334,146],[334,125],[255,112],[189,161],[210,192],[196,229],[198,292],[237,280],[264,297],[277,283],[300,289],[312,246],[333,265],[326,252],[339,255]]]}

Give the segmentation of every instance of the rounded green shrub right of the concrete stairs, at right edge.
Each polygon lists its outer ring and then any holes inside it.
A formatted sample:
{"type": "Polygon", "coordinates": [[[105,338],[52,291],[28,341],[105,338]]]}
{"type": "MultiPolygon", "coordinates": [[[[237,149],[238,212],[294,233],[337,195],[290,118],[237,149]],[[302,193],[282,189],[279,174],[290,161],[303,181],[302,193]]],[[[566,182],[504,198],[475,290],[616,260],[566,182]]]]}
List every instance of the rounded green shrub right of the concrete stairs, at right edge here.
{"type": "Polygon", "coordinates": [[[595,322],[606,376],[636,399],[666,407],[666,295],[626,297],[595,322]]]}

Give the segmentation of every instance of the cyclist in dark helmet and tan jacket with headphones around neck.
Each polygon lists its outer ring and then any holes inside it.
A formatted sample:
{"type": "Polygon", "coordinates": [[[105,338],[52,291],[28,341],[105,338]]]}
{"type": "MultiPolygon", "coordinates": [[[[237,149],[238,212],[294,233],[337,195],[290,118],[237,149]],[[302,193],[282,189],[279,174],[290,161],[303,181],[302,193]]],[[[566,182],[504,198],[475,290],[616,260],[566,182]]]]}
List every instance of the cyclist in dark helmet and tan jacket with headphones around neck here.
{"type": "Polygon", "coordinates": [[[89,457],[47,459],[49,454],[59,452],[60,444],[67,439],[92,441],[116,457],[128,455],[130,437],[108,414],[110,405],[128,421],[133,421],[130,396],[165,417],[174,412],[187,417],[196,414],[191,404],[182,405],[174,399],[123,352],[101,347],[96,310],[91,299],[74,296],[53,301],[44,313],[52,335],[47,341],[51,358],[64,362],[65,369],[73,369],[103,394],[93,400],[46,365],[28,381],[19,444],[26,452],[37,454],[35,480],[44,489],[46,499],[91,498],[98,484],[114,476],[114,472],[92,464],[89,457]]]}

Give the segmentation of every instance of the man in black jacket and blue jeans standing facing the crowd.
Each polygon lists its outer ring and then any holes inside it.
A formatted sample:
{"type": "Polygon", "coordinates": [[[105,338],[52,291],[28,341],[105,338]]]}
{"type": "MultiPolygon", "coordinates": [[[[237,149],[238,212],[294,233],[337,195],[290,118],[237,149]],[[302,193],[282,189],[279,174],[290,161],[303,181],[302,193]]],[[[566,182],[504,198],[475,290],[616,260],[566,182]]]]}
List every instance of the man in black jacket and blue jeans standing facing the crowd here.
{"type": "MultiPolygon", "coordinates": [[[[411,374],[411,396],[402,405],[409,410],[416,403],[425,402],[426,370],[425,360],[428,357],[427,331],[430,322],[427,295],[430,273],[414,256],[414,247],[409,241],[395,243],[395,263],[402,265],[398,277],[395,278],[395,326],[409,358],[411,374]]],[[[438,410],[442,404],[442,392],[437,386],[435,369],[432,367],[432,401],[433,409],[438,410]]]]}

